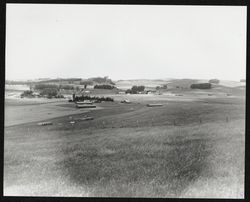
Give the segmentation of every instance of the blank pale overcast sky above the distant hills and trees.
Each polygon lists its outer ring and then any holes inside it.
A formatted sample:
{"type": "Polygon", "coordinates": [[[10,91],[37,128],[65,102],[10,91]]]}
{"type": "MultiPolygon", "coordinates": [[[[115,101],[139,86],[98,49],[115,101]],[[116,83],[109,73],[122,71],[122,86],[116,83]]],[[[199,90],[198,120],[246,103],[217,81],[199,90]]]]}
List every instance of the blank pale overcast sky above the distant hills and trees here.
{"type": "Polygon", "coordinates": [[[246,77],[246,7],[7,4],[6,79],[246,77]]]}

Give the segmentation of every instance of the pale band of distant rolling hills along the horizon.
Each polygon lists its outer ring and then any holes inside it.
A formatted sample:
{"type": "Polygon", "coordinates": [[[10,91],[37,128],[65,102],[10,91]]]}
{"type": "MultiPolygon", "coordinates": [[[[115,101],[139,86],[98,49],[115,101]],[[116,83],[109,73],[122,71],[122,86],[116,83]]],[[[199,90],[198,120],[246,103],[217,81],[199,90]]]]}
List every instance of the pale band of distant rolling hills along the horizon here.
{"type": "MultiPolygon", "coordinates": [[[[81,78],[56,78],[56,79],[34,79],[29,81],[6,81],[6,84],[15,84],[15,85],[34,85],[37,83],[42,84],[70,84],[70,85],[84,85],[85,81],[90,81],[91,84],[87,84],[88,88],[93,88],[94,85],[114,85],[116,88],[121,90],[131,89],[132,86],[145,86],[145,90],[155,90],[157,86],[167,85],[167,89],[161,89],[161,92],[173,91],[190,91],[190,86],[197,83],[208,83],[209,80],[199,80],[199,79],[130,79],[130,80],[111,80],[106,77],[92,77],[88,79],[81,78]]],[[[240,81],[227,81],[220,80],[218,84],[212,84],[212,89],[218,92],[243,92],[245,90],[245,82],[240,81]]]]}

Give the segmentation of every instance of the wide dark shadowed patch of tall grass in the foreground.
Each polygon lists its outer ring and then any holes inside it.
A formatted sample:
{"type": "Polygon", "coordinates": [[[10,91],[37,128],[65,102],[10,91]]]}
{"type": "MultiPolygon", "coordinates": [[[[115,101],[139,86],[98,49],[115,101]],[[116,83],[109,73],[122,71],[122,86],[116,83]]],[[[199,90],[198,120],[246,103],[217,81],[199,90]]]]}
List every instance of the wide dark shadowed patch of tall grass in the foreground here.
{"type": "Polygon", "coordinates": [[[97,197],[179,197],[209,173],[211,141],[204,136],[90,137],[63,148],[64,174],[97,197]]]}

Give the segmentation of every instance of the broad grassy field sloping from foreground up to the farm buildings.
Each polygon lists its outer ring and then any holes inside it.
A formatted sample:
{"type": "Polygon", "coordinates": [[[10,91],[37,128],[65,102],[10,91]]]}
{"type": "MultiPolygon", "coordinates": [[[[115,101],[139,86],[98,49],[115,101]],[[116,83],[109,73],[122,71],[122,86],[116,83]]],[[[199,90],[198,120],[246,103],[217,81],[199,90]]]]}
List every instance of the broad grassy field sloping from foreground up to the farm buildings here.
{"type": "Polygon", "coordinates": [[[194,95],[131,95],[47,117],[50,126],[5,127],[4,195],[243,198],[245,98],[194,95]]]}

